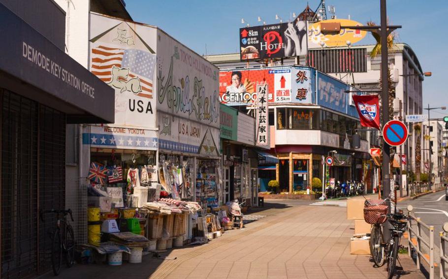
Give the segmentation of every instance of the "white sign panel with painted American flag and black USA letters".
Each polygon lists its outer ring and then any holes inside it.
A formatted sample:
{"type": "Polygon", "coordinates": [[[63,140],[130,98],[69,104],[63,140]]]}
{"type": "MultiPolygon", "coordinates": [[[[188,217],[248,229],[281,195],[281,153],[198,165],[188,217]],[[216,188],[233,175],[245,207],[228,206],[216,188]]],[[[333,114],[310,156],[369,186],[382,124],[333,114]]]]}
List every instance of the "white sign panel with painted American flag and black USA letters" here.
{"type": "Polygon", "coordinates": [[[156,127],[156,28],[90,15],[90,71],[115,90],[115,124],[156,127]]]}

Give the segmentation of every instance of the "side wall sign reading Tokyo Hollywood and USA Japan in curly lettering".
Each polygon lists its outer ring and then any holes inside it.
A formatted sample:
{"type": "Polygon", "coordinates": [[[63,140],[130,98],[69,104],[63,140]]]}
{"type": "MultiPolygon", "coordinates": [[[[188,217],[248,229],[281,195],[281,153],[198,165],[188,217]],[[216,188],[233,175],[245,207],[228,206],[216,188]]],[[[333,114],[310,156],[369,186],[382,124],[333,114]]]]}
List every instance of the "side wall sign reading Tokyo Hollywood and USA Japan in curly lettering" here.
{"type": "Polygon", "coordinates": [[[159,147],[219,156],[219,70],[158,29],[159,147]]]}

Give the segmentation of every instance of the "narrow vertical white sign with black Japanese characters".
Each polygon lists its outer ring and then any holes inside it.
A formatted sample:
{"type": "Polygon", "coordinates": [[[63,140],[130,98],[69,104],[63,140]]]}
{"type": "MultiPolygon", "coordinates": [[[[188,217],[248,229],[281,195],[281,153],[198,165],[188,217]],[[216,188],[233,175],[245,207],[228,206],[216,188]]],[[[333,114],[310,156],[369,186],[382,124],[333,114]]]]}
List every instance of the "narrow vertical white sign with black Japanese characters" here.
{"type": "Polygon", "coordinates": [[[258,85],[256,88],[256,145],[269,145],[268,140],[268,85],[258,85]]]}

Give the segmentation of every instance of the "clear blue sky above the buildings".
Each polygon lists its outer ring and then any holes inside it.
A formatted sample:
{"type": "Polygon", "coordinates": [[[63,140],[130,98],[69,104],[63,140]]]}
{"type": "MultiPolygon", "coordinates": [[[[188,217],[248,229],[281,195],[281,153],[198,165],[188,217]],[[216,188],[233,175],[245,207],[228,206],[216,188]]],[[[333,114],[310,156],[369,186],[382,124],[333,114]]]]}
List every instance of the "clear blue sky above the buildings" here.
{"type": "MultiPolygon", "coordinates": [[[[236,53],[239,47],[241,18],[251,26],[278,22],[278,14],[288,21],[292,12],[305,9],[305,0],[125,0],[132,19],[155,25],[200,55],[236,53]]],[[[309,0],[317,8],[320,0],[309,0]]],[[[327,7],[336,7],[337,18],[348,18],[365,24],[380,24],[380,0],[326,0],[327,7]]],[[[432,72],[423,82],[423,107],[448,106],[448,15],[447,0],[388,0],[390,25],[401,25],[397,42],[407,43],[416,53],[423,71],[432,72]]],[[[327,15],[330,15],[327,12],[327,15]]],[[[371,35],[357,44],[374,43],[371,35]]],[[[431,118],[448,114],[431,111],[431,118]]]]}

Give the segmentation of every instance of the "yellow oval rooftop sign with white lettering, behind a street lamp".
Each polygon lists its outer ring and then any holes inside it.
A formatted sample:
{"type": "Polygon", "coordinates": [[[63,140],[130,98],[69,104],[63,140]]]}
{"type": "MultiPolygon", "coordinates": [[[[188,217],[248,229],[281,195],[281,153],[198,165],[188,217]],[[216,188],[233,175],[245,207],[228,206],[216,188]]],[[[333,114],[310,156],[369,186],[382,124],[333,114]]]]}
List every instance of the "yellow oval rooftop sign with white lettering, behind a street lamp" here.
{"type": "Polygon", "coordinates": [[[354,44],[362,40],[367,31],[354,30],[348,28],[341,28],[339,34],[324,35],[320,32],[320,23],[332,23],[338,22],[342,26],[362,26],[359,22],[349,19],[329,19],[320,21],[308,26],[308,48],[321,48],[323,47],[343,47],[347,46],[347,42],[354,44]]]}

